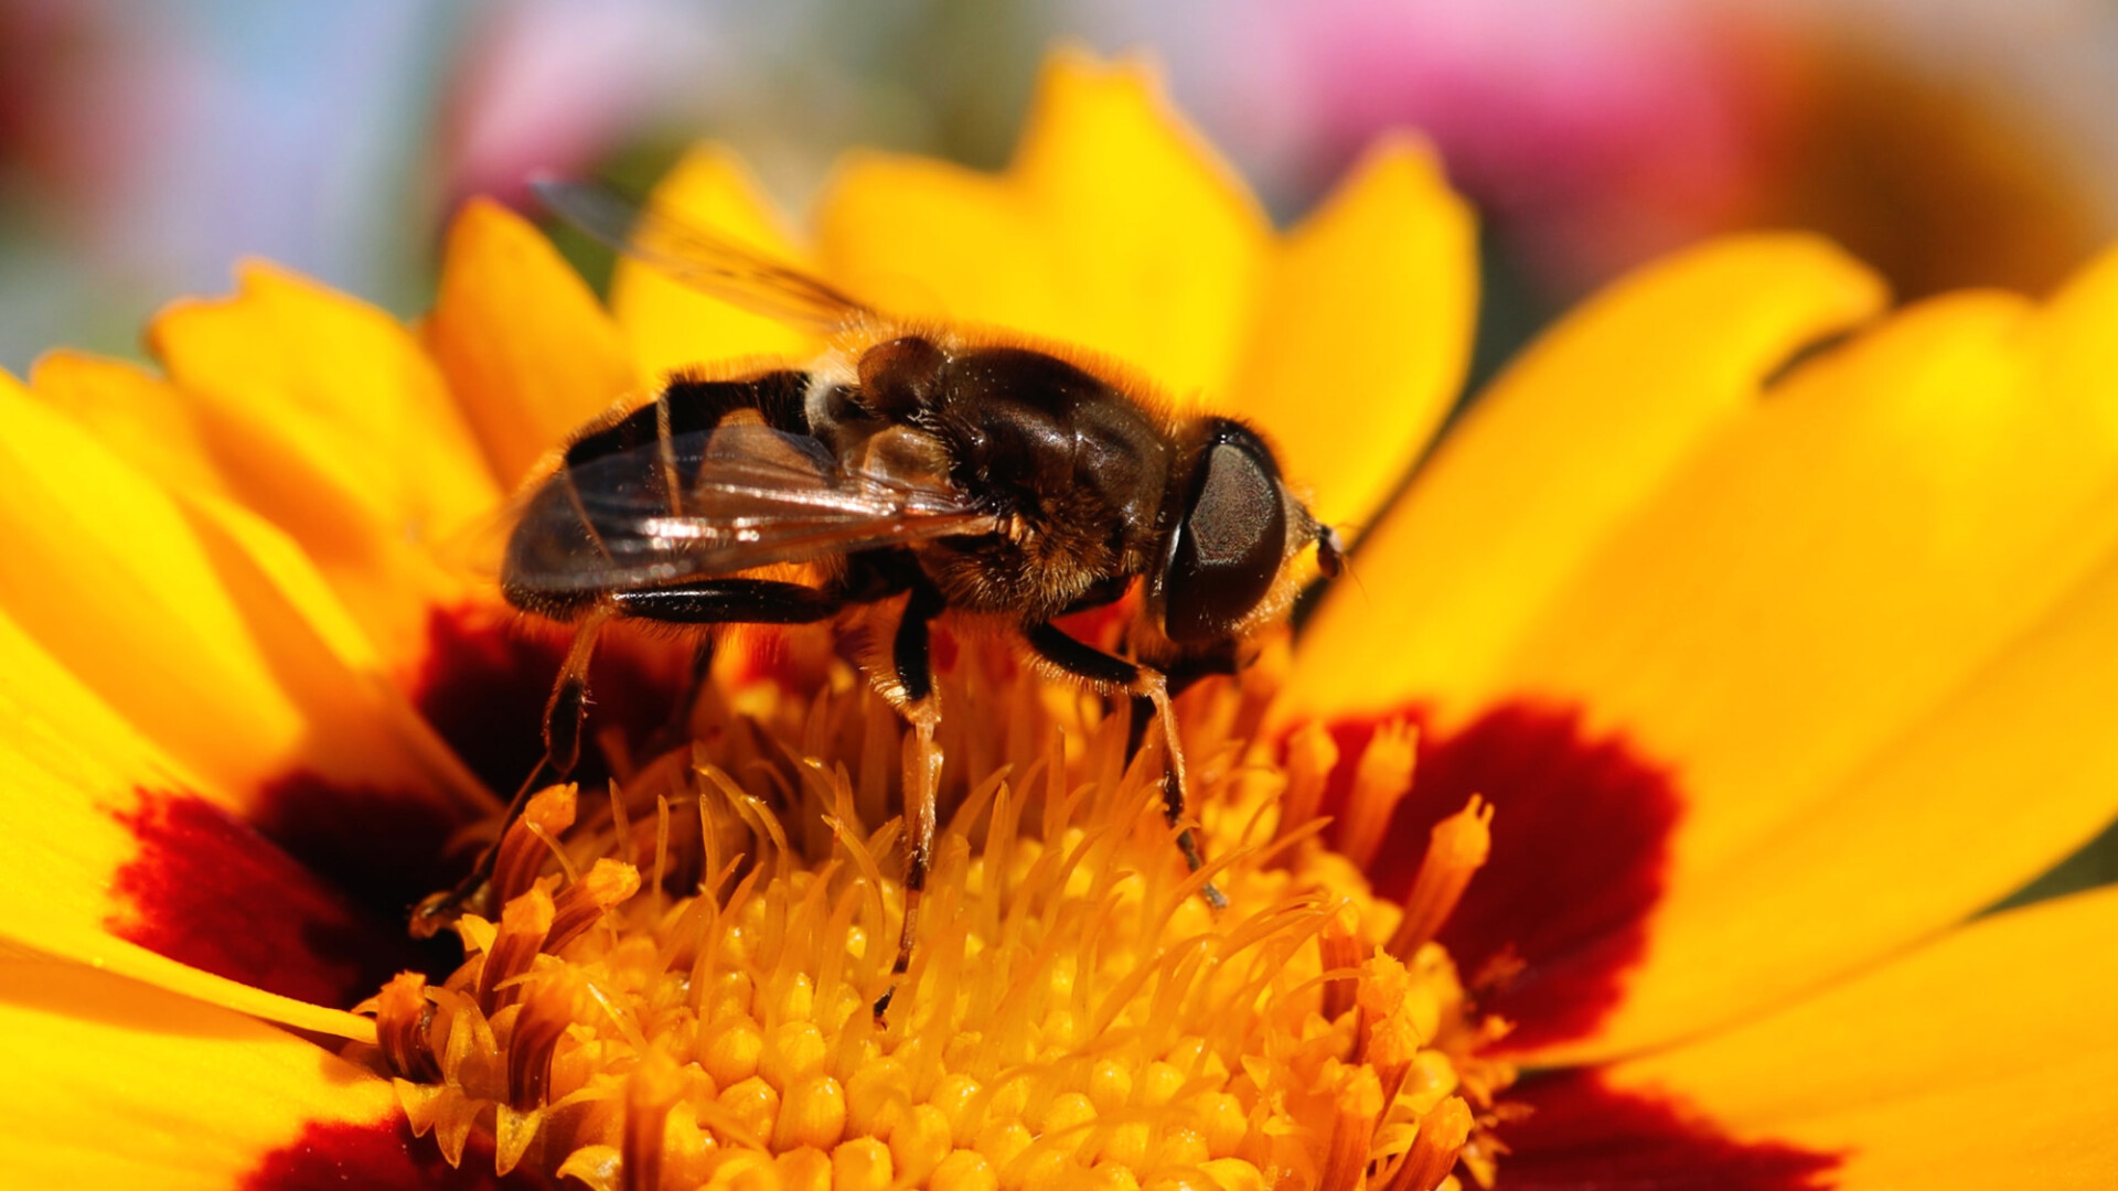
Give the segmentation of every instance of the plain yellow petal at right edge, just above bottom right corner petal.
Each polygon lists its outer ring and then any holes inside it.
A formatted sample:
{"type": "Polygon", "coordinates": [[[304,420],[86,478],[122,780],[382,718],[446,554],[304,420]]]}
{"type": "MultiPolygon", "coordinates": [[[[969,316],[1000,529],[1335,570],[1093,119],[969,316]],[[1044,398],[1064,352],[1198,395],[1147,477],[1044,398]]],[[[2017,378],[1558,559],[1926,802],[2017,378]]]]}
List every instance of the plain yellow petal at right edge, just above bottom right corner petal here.
{"type": "MultiPolygon", "coordinates": [[[[2118,509],[2114,509],[2118,513],[2118,509]]],[[[1773,1005],[2018,888],[2118,797],[2118,557],[1830,797],[1675,882],[1599,1049],[1773,1005]]]]}

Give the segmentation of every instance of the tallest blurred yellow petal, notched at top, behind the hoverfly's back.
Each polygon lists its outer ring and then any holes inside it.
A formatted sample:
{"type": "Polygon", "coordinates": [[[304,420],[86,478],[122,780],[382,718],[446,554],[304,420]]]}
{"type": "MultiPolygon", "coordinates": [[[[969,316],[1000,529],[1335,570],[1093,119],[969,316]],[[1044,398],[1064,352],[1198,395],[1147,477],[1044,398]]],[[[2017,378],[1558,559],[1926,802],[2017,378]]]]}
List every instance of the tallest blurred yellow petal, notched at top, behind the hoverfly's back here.
{"type": "Polygon", "coordinates": [[[1271,235],[1150,70],[1074,53],[1046,64],[1006,174],[851,157],[818,229],[830,275],[875,301],[1110,354],[1180,401],[1226,401],[1271,235]]]}

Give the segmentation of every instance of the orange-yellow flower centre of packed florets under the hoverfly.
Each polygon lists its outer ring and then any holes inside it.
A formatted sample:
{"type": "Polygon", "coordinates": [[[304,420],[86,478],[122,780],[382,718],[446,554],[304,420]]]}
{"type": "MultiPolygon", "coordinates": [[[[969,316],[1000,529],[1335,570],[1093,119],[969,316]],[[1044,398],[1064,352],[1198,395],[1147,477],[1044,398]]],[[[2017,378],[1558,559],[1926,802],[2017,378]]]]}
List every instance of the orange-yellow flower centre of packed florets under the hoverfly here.
{"type": "Polygon", "coordinates": [[[1129,761],[1123,708],[964,651],[943,680],[943,831],[894,975],[896,714],[851,668],[779,682],[710,689],[688,740],[608,788],[538,793],[489,918],[455,924],[462,966],[366,1005],[373,1062],[451,1163],[483,1136],[500,1174],[595,1191],[1491,1178],[1514,1072],[1483,1047],[1506,1026],[1434,941],[1491,807],[1436,829],[1406,905],[1356,863],[1411,782],[1408,733],[1347,759],[1356,858],[1313,816],[1328,744],[1243,740],[1252,685],[1186,693],[1195,873],[1154,733],[1129,761]]]}

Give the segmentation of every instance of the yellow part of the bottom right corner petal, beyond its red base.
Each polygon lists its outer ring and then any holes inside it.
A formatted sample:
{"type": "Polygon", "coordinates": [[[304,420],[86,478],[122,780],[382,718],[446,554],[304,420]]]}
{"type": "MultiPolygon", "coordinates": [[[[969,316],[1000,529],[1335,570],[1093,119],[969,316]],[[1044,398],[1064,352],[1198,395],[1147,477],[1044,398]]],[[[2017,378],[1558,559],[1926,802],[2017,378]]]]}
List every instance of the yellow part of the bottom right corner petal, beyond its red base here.
{"type": "Polygon", "coordinates": [[[2110,1187],[2118,890],[1966,926],[1796,1007],[1610,1070],[1843,1187],[2110,1187]]]}

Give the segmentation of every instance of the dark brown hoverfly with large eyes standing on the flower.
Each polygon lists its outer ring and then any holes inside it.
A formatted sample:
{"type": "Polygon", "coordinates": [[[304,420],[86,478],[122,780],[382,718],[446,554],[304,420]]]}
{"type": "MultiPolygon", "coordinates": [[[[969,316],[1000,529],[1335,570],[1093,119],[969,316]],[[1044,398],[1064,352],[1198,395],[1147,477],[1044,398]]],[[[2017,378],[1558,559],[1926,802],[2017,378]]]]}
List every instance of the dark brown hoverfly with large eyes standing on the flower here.
{"type": "MultiPolygon", "coordinates": [[[[589,653],[612,619],[794,625],[900,602],[868,665],[915,731],[896,975],[934,848],[940,708],[928,632],[945,610],[1012,632],[1053,674],[1131,697],[1135,748],[1159,721],[1165,814],[1197,871],[1169,699],[1233,672],[1239,644],[1286,615],[1303,551],[1315,547],[1326,576],[1343,553],[1271,447],[1237,420],[1173,413],[1025,341],[896,322],[610,191],[555,180],[536,191],[612,248],[828,343],[801,369],[678,373],[650,405],[580,430],[527,494],[500,589],[523,612],[576,625],[544,714],[551,769],[563,776],[578,759],[589,653]],[[748,574],[773,564],[818,564],[824,579],[748,574]],[[1053,625],[1133,583],[1144,600],[1131,659],[1053,625]]],[[[1220,899],[1211,886],[1207,896],[1220,899]]]]}

